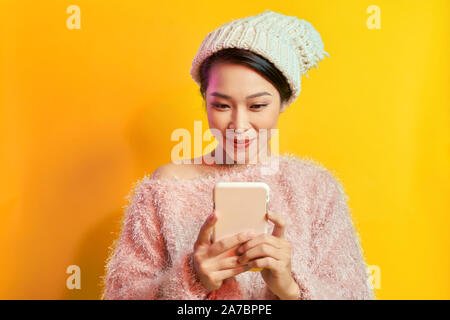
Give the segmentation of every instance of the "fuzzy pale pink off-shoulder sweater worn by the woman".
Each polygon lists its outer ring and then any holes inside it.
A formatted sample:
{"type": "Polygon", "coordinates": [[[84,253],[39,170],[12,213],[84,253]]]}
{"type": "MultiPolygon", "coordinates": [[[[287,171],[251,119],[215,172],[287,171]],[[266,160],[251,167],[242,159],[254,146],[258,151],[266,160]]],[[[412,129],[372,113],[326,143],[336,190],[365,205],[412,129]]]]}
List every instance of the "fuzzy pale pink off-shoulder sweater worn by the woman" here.
{"type": "Polygon", "coordinates": [[[249,164],[194,179],[154,173],[136,182],[128,195],[121,234],[110,247],[101,298],[279,299],[260,272],[252,271],[209,292],[192,265],[200,227],[213,210],[214,184],[263,181],[271,190],[268,209],[286,221],[299,299],[375,299],[341,183],[314,160],[292,154],[272,159],[276,170],[265,170],[268,164],[249,164]]]}

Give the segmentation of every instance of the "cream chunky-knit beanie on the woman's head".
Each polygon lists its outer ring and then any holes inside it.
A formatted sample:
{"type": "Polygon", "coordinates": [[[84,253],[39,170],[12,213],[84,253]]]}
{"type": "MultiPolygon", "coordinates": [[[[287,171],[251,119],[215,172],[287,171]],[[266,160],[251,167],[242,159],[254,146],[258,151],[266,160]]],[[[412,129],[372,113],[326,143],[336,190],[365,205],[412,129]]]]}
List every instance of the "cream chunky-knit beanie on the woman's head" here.
{"type": "MultiPolygon", "coordinates": [[[[200,65],[207,57],[225,48],[242,48],[272,62],[286,77],[292,90],[287,105],[300,94],[301,75],[330,56],[323,49],[320,34],[311,23],[266,9],[263,13],[225,23],[210,32],[200,44],[191,76],[200,84],[200,65]]],[[[308,75],[306,74],[308,77],[308,75]]]]}

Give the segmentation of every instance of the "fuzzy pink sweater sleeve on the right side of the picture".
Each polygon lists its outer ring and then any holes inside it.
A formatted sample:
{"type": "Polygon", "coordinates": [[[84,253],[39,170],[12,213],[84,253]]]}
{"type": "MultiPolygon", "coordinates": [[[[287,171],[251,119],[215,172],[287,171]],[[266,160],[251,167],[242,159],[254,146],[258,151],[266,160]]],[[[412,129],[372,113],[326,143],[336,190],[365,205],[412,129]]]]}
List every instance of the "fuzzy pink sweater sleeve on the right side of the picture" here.
{"type": "Polygon", "coordinates": [[[317,182],[309,259],[305,263],[293,260],[299,299],[372,300],[373,289],[342,185],[330,172],[321,172],[317,182]]]}

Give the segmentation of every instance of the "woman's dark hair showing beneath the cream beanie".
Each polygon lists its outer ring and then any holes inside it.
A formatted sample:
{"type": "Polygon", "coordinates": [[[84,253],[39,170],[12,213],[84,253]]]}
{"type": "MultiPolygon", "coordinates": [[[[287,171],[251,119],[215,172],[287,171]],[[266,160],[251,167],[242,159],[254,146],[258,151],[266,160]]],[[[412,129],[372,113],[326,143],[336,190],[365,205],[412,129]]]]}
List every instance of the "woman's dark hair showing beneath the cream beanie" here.
{"type": "Polygon", "coordinates": [[[200,94],[205,100],[206,89],[209,84],[209,72],[213,65],[219,62],[230,62],[247,66],[261,76],[270,81],[280,94],[280,103],[289,100],[292,95],[292,90],[286,77],[275,65],[264,58],[263,56],[246,49],[241,48],[226,48],[213,53],[206,58],[199,69],[200,76],[200,94]]]}

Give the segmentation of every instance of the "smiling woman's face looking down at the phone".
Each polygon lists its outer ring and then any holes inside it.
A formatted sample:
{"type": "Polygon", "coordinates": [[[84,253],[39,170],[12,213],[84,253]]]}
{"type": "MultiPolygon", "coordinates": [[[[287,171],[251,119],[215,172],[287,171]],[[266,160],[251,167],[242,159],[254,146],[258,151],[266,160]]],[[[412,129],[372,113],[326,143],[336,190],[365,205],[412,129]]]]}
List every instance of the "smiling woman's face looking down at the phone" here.
{"type": "MultiPolygon", "coordinates": [[[[219,142],[223,163],[258,161],[271,155],[271,129],[284,110],[278,90],[246,66],[221,62],[209,73],[205,93],[209,128],[219,142]],[[247,143],[245,143],[247,142],[247,143]]],[[[217,158],[216,158],[217,161],[217,158]]]]}

